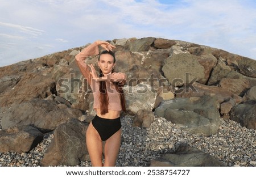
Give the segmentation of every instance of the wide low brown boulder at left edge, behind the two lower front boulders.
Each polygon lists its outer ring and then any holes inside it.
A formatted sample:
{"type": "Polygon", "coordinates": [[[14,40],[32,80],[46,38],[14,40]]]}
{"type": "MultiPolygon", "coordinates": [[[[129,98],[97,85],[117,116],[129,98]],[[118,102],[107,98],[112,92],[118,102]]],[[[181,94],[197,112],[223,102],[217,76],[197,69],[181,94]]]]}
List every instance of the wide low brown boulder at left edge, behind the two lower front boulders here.
{"type": "Polygon", "coordinates": [[[32,125],[40,132],[49,132],[69,118],[82,115],[79,109],[65,107],[53,100],[33,99],[7,109],[2,116],[2,128],[13,125],[32,125]]]}

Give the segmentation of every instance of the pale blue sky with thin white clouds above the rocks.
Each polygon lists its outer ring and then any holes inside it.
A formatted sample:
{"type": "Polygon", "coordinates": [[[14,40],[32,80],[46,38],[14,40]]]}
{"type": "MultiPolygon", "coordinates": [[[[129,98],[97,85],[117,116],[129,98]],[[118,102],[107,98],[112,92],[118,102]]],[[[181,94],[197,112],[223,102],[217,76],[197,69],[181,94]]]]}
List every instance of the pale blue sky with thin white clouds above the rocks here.
{"type": "Polygon", "coordinates": [[[182,40],[256,60],[256,1],[0,0],[0,67],[131,37],[182,40]]]}

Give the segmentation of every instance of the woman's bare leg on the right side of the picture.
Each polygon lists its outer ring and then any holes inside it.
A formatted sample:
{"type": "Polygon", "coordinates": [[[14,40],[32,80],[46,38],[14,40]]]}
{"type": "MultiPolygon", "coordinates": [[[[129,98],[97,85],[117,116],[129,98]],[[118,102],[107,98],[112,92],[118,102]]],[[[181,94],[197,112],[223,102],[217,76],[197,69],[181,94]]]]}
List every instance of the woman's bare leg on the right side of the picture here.
{"type": "Polygon", "coordinates": [[[106,140],[104,147],[104,166],[115,166],[121,143],[121,133],[122,129],[119,129],[109,139],[106,140]]]}

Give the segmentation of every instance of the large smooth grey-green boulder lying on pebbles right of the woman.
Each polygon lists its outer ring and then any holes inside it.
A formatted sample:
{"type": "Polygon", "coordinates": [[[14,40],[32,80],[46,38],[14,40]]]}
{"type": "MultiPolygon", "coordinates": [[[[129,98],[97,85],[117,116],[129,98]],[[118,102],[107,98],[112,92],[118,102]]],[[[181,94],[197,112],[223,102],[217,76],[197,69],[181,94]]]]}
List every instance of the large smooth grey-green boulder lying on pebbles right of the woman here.
{"type": "Polygon", "coordinates": [[[163,101],[155,115],[180,126],[193,134],[216,134],[220,125],[219,103],[216,97],[177,98],[163,101]]]}

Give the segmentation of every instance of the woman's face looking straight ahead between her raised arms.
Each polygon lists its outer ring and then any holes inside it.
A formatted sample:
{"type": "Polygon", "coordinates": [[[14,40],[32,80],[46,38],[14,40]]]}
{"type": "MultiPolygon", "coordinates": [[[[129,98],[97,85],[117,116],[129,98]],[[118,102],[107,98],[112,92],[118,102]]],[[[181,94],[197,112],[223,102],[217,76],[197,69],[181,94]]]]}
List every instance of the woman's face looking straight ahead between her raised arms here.
{"type": "Polygon", "coordinates": [[[110,54],[101,54],[100,61],[98,61],[98,66],[100,66],[103,75],[110,74],[115,66],[113,56],[110,54]]]}

